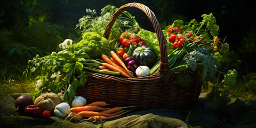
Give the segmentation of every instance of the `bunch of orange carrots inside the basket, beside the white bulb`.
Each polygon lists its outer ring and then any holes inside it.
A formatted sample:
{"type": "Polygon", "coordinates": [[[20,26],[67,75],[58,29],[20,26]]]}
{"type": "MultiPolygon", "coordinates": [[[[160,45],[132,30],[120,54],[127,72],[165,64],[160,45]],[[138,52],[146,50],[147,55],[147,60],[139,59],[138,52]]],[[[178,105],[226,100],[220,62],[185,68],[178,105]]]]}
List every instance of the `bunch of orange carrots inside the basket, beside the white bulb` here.
{"type": "Polygon", "coordinates": [[[118,57],[118,55],[111,51],[111,58],[108,58],[107,55],[102,54],[101,58],[106,63],[101,63],[100,69],[107,69],[112,71],[119,72],[122,76],[127,78],[134,78],[132,73],[126,68],[124,62],[118,57]]]}

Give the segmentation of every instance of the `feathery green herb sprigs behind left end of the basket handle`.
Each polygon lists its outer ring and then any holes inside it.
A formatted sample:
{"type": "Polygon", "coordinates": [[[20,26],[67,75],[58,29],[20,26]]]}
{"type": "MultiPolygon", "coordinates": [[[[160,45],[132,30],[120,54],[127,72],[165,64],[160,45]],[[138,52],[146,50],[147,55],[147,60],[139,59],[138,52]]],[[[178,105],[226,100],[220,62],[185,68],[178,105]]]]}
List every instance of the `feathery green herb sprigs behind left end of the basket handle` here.
{"type": "MultiPolygon", "coordinates": [[[[82,34],[86,32],[94,32],[100,36],[103,36],[108,22],[116,10],[117,8],[115,6],[106,5],[103,7],[103,9],[101,9],[100,15],[97,16],[97,12],[95,10],[86,9],[86,13],[89,15],[85,15],[79,19],[76,28],[81,29],[82,34]]],[[[109,35],[110,43],[116,43],[119,41],[119,36],[125,31],[124,28],[140,28],[135,18],[127,11],[124,11],[121,15],[119,15],[111,28],[109,35]]]]}

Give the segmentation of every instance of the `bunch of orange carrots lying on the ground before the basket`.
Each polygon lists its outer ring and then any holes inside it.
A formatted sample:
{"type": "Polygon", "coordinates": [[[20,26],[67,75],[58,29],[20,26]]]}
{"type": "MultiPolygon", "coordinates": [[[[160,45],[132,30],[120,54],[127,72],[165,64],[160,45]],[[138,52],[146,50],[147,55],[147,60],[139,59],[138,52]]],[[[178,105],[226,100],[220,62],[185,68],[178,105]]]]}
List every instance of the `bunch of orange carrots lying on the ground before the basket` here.
{"type": "Polygon", "coordinates": [[[67,118],[71,118],[73,121],[81,121],[84,117],[88,117],[86,120],[89,121],[106,121],[127,113],[123,110],[126,107],[105,108],[106,105],[105,101],[97,101],[86,106],[73,107],[69,110],[67,118]]]}

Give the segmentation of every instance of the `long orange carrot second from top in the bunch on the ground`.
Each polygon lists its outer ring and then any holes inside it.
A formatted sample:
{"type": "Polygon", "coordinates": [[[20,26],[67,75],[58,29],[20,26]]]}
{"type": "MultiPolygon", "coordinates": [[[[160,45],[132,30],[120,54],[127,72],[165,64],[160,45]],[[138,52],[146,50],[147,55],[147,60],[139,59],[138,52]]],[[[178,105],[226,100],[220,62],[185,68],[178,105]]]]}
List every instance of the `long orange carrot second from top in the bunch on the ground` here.
{"type": "Polygon", "coordinates": [[[73,107],[70,108],[70,112],[75,112],[75,111],[102,111],[102,110],[108,110],[109,108],[102,108],[99,106],[82,106],[82,107],[73,107]]]}

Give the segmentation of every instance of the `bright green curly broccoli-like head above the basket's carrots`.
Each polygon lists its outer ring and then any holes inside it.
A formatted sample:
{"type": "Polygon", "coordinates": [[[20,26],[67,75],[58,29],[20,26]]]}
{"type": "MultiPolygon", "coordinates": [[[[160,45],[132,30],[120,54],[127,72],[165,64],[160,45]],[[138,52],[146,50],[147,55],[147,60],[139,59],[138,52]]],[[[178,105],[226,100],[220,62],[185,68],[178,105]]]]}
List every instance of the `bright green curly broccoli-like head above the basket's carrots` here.
{"type": "Polygon", "coordinates": [[[82,40],[74,45],[74,50],[84,49],[92,59],[101,58],[102,54],[110,54],[111,45],[105,37],[94,32],[84,33],[82,40]]]}

